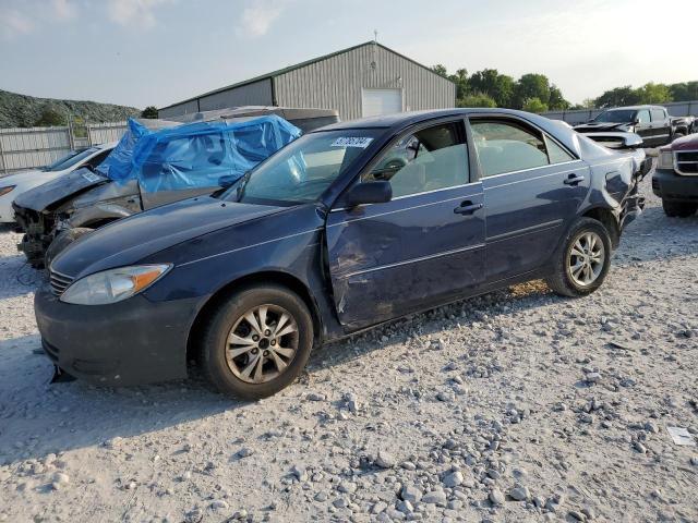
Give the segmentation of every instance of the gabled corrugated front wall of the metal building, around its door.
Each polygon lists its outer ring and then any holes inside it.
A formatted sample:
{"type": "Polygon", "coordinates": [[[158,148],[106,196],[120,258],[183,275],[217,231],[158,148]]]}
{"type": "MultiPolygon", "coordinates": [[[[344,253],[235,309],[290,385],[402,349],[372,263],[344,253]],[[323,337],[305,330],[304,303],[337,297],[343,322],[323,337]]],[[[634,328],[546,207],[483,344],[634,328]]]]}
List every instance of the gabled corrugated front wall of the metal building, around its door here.
{"type": "Polygon", "coordinates": [[[277,105],[337,109],[361,118],[362,88],[402,89],[405,110],[454,107],[456,86],[380,46],[368,45],[274,78],[277,105]],[[375,62],[375,68],[372,66],[375,62]]]}

